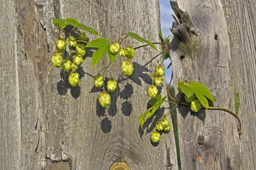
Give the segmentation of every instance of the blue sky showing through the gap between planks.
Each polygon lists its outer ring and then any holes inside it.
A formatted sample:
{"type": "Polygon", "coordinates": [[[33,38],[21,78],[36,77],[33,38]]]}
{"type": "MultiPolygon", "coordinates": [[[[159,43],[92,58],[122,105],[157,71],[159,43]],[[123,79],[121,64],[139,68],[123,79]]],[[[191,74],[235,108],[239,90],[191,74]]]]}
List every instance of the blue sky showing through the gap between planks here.
{"type": "MultiPolygon", "coordinates": [[[[170,28],[172,27],[172,7],[170,5],[170,0],[159,0],[160,3],[160,21],[161,21],[161,31],[163,37],[168,37],[170,35],[170,28]]],[[[167,69],[168,65],[170,64],[170,59],[166,59],[164,61],[164,66],[166,69],[166,82],[169,83],[171,76],[172,76],[172,67],[167,69]]]]}

